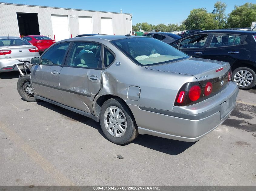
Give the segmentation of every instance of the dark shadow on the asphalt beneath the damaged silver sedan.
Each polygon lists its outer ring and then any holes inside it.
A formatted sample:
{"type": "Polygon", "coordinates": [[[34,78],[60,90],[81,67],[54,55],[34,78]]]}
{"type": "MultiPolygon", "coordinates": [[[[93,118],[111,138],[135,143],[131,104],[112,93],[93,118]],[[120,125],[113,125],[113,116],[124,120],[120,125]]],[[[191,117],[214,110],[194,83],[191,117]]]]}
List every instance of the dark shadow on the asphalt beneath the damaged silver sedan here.
{"type": "MultiPolygon", "coordinates": [[[[42,107],[46,107],[50,110],[53,110],[57,113],[62,114],[65,119],[68,119],[71,121],[78,121],[85,125],[91,126],[95,129],[97,129],[98,132],[105,139],[107,139],[101,130],[100,123],[94,121],[93,119],[83,116],[81,114],[72,112],[65,108],[56,106],[54,104],[45,102],[45,101],[37,102],[37,104],[42,107]]],[[[182,142],[182,141],[176,141],[176,140],[171,140],[171,139],[167,139],[167,138],[155,137],[152,135],[138,135],[138,137],[131,143],[141,145],[143,147],[147,147],[147,148],[150,148],[155,151],[162,152],[162,153],[166,153],[166,154],[170,154],[170,155],[177,155],[177,154],[184,152],[186,149],[188,149],[189,147],[194,145],[196,142],[182,142]]],[[[128,143],[126,145],[129,145],[131,143],[128,143]]],[[[125,145],[123,145],[123,146],[125,146],[125,145]]]]}

